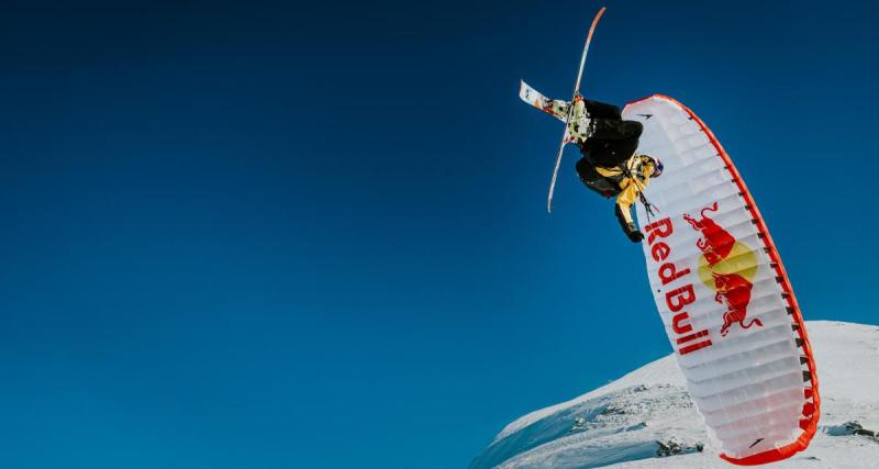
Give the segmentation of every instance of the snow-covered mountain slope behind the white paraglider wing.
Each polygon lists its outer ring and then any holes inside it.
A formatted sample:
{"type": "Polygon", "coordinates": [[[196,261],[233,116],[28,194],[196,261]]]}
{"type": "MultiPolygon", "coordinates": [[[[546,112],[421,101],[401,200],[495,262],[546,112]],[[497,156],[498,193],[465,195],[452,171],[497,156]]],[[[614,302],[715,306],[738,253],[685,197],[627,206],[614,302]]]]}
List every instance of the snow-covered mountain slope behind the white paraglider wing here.
{"type": "MultiPolygon", "coordinates": [[[[879,326],[806,323],[821,382],[819,433],[780,468],[879,468],[879,326]]],[[[711,468],[717,457],[669,355],[507,425],[479,468],[711,468]]]]}

